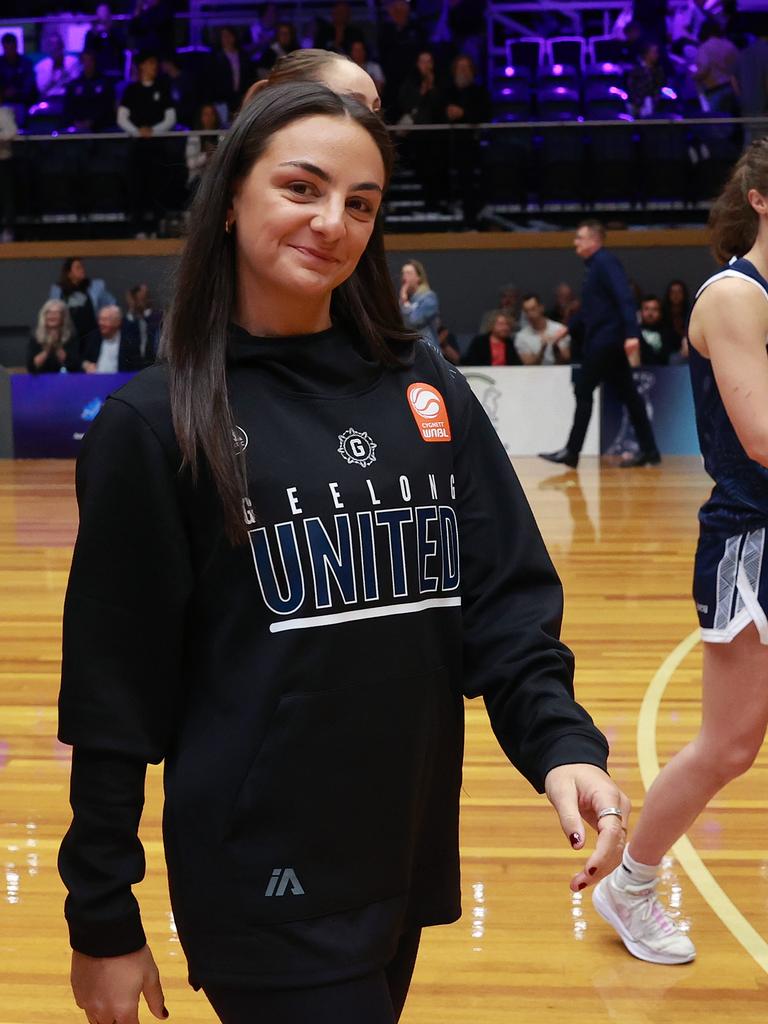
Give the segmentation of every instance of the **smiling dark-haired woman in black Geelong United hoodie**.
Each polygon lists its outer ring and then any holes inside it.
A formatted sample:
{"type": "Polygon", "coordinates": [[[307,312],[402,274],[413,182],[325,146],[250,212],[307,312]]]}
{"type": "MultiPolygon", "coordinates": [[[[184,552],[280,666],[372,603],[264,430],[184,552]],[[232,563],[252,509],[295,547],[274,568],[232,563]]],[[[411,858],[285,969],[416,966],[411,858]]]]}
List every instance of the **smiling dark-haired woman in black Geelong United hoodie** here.
{"type": "Polygon", "coordinates": [[[574,849],[597,827],[572,888],[617,861],[629,802],[573,700],[559,582],[481,407],[400,318],[391,164],[354,100],[256,96],[195,200],[163,359],[84,441],[59,867],[91,1024],[137,1024],[142,992],[166,1016],[131,892],[147,762],[224,1024],[398,1020],[421,929],[460,913],[464,695],[574,849]]]}

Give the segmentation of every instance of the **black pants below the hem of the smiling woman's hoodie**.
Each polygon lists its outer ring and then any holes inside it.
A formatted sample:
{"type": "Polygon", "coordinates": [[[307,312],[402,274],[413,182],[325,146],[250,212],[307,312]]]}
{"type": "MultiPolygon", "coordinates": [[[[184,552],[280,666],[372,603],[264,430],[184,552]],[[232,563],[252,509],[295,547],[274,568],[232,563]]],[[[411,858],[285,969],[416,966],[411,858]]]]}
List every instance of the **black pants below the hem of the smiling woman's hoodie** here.
{"type": "Polygon", "coordinates": [[[396,1024],[408,995],[421,929],[400,939],[383,971],[314,988],[205,988],[222,1024],[396,1024]]]}

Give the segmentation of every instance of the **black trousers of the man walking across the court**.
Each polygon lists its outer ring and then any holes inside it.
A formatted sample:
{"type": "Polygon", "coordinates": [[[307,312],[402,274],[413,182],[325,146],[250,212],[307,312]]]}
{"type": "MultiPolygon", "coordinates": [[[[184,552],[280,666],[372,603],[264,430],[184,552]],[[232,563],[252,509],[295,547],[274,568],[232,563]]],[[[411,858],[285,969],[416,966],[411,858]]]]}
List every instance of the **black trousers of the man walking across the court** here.
{"type": "Polygon", "coordinates": [[[627,407],[640,451],[655,452],[656,440],[648,420],[648,414],[645,412],[645,404],[637,393],[632,370],[627,361],[624,348],[618,345],[606,346],[595,352],[585,352],[582,369],[573,387],[577,410],[568,437],[568,451],[574,455],[579,455],[582,451],[587,427],[589,427],[592,417],[592,392],[598,384],[603,382],[611,384],[615,388],[620,400],[627,407]]]}

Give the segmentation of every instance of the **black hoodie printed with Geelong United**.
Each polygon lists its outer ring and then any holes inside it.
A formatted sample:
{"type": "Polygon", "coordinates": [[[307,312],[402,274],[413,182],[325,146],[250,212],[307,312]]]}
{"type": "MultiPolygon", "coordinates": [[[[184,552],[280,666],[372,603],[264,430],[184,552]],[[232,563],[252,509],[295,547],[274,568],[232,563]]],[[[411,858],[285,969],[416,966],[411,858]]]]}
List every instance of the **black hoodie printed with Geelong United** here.
{"type": "Polygon", "coordinates": [[[460,913],[463,698],[540,792],[605,766],[572,698],[560,583],[464,378],[385,369],[337,328],[232,332],[250,544],[179,472],[167,370],[108,400],[78,461],[59,737],[74,948],[143,945],[131,885],[165,760],[171,900],[194,985],[332,982],[460,913]]]}

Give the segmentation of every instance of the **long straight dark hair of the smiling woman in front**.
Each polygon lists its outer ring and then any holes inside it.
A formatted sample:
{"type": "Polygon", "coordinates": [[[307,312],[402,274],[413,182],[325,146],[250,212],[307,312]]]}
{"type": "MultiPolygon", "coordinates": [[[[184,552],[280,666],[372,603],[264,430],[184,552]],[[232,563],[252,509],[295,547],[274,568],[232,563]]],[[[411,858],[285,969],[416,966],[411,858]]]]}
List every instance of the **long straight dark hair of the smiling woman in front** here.
{"type": "MultiPolygon", "coordinates": [[[[234,421],[226,386],[229,325],[236,312],[236,231],[224,224],[239,181],[263,156],[275,132],[312,115],[351,118],[381,153],[385,187],[393,151],[383,122],[360,103],[316,83],[270,86],[241,112],[203,175],[189,212],[189,233],[178,267],[174,299],[163,330],[161,357],[168,364],[173,425],[184,466],[197,480],[210,473],[232,543],[247,539],[244,460],[232,442],[234,421]]],[[[381,215],[351,276],[331,298],[335,324],[368,344],[382,364],[398,362],[396,349],[415,338],[400,317],[387,268],[381,215]]]]}

